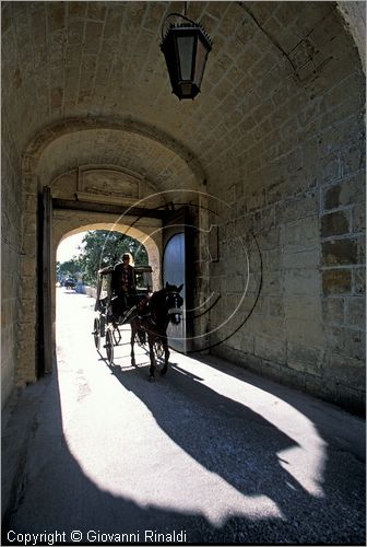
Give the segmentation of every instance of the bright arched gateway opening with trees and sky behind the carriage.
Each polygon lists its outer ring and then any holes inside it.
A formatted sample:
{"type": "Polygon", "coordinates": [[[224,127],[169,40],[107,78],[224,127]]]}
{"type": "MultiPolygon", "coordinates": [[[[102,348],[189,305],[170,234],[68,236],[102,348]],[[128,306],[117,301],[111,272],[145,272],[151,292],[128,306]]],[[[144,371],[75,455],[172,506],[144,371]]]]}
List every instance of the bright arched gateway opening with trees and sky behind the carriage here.
{"type": "MultiPolygon", "coordinates": [[[[55,216],[56,217],[56,216],[55,216]]],[[[52,350],[48,358],[48,372],[51,372],[56,362],[56,321],[57,295],[69,291],[70,294],[84,293],[91,296],[93,312],[98,269],[115,266],[120,261],[122,254],[129,252],[135,265],[151,265],[153,270],[152,289],[161,288],[161,240],[152,230],[155,226],[146,225],[145,230],[130,228],[111,222],[84,224],[73,228],[69,219],[66,223],[54,219],[52,226],[52,263],[51,263],[51,309],[52,350]],[[66,226],[66,228],[63,228],[66,226]],[[127,232],[129,231],[129,235],[127,232]],[[153,232],[153,234],[152,234],[153,232]],[[71,278],[74,286],[66,288],[62,281],[71,278]]],[[[64,219],[63,219],[64,220],[64,219]]],[[[71,302],[71,299],[69,299],[71,302]]],[[[91,319],[93,322],[93,317],[91,319]]],[[[88,334],[92,328],[88,325],[88,334]]],[[[92,336],[91,336],[92,338],[92,336]]],[[[42,371],[39,371],[42,374],[42,371]]]]}

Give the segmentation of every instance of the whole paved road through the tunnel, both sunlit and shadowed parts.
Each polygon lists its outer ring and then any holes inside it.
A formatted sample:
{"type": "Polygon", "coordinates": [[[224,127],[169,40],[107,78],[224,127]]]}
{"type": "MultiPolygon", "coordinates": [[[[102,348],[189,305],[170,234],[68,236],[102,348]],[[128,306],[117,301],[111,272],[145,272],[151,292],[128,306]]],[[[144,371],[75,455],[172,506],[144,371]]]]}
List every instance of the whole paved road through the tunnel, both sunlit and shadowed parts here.
{"type": "Polygon", "coordinates": [[[215,358],[173,353],[150,383],[142,349],[130,365],[127,331],[109,368],[93,304],[58,290],[58,371],[27,391],[3,545],[42,533],[72,544],[72,531],[74,545],[364,543],[362,420],[215,358]]]}

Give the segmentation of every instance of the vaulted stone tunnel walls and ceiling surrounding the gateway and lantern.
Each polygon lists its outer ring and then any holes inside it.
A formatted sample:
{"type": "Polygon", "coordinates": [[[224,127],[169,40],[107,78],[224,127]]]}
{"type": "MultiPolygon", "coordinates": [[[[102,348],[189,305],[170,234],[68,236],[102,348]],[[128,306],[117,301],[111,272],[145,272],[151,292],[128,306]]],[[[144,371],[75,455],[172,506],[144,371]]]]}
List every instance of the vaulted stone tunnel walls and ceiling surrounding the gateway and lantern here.
{"type": "Polygon", "coordinates": [[[35,381],[48,186],[73,203],[63,233],[115,222],[78,201],[189,207],[193,304],[221,296],[194,335],[364,408],[364,7],[353,4],[188,2],[214,46],[201,94],[178,102],[159,51],[174,2],[2,2],[3,404],[35,381]]]}

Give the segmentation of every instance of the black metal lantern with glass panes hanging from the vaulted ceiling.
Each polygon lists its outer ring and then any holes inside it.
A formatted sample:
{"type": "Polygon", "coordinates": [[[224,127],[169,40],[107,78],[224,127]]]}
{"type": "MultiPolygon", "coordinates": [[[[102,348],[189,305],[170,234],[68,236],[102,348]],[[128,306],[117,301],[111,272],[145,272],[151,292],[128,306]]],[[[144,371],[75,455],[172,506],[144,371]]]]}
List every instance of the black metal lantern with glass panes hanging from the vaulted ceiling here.
{"type": "Polygon", "coordinates": [[[181,25],[171,24],[161,44],[173,93],[179,100],[194,98],[200,93],[212,42],[200,24],[177,13],[170,15],[180,16],[188,21],[181,25]]]}

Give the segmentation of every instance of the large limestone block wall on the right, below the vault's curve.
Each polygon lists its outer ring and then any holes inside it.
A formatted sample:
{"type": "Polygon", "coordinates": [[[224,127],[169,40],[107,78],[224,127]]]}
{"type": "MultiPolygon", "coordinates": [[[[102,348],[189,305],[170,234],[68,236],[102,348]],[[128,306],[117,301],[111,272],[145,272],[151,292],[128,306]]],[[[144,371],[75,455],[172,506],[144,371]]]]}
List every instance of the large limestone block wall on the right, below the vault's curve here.
{"type": "Polygon", "coordinates": [[[214,352],[359,409],[365,401],[363,181],[363,173],[343,176],[339,171],[315,190],[249,208],[220,230],[222,270],[221,263],[211,268],[212,288],[222,295],[212,312],[212,328],[225,322],[212,336],[215,344],[247,315],[259,288],[259,258],[252,253],[246,305],[235,325],[227,325],[247,281],[232,240],[257,235],[262,258],[259,301],[246,324],[214,352]]]}

